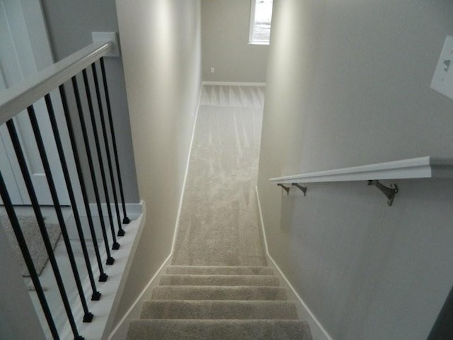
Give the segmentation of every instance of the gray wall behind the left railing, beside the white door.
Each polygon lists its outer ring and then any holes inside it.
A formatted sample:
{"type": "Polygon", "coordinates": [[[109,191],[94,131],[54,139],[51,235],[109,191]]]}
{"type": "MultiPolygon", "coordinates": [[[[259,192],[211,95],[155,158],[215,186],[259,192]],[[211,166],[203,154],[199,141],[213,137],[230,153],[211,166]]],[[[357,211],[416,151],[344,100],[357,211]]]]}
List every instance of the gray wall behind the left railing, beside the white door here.
{"type": "MultiPolygon", "coordinates": [[[[91,32],[118,31],[115,1],[42,0],[42,7],[55,61],[62,60],[93,42],[91,32]]],[[[113,123],[117,131],[116,139],[118,154],[120,155],[125,201],[137,203],[139,196],[121,58],[106,57],[105,69],[108,77],[113,123]]],[[[74,110],[74,112],[76,111],[74,110]]],[[[77,131],[77,135],[79,142],[81,142],[81,132],[77,131]]],[[[83,150],[82,147],[80,149],[83,150]]],[[[83,154],[84,152],[81,152],[81,156],[83,154]]],[[[86,173],[88,173],[88,165],[85,168],[86,173]]],[[[101,185],[101,181],[99,185],[101,185]]],[[[89,194],[93,199],[91,186],[88,186],[88,191],[90,191],[89,194]]],[[[111,197],[110,200],[112,200],[111,197]]]]}

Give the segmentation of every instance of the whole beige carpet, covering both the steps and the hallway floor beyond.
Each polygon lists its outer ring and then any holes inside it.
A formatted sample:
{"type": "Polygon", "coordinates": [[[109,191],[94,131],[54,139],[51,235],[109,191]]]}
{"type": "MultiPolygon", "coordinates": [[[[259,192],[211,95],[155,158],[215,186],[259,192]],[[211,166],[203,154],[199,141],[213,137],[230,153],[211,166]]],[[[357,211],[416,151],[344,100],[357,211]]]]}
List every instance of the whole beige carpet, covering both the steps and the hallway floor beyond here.
{"type": "Polygon", "coordinates": [[[267,266],[256,179],[264,88],[203,86],[171,266],[128,340],[309,340],[267,266]]]}

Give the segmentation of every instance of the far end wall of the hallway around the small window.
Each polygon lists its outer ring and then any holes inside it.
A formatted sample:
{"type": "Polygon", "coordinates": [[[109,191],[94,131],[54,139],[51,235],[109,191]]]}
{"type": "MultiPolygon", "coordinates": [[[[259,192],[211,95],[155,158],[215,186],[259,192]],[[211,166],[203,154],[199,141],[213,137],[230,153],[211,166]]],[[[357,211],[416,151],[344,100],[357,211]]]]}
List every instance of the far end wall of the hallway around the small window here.
{"type": "Polygon", "coordinates": [[[202,0],[203,81],[265,82],[269,46],[248,45],[249,23],[250,1],[202,0]]]}

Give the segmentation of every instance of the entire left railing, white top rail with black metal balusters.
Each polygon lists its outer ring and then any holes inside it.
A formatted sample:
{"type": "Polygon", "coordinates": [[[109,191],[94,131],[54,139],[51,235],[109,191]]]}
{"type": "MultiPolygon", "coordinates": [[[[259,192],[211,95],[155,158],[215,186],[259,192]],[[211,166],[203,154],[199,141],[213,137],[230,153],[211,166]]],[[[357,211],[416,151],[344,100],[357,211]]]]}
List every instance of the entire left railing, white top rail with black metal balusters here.
{"type": "MultiPolygon", "coordinates": [[[[71,265],[71,271],[74,276],[76,290],[79,295],[79,302],[84,310],[84,322],[91,322],[93,314],[88,310],[87,299],[93,301],[101,298],[101,292],[97,288],[97,281],[105,282],[108,280],[108,275],[105,273],[105,265],[111,266],[115,262],[112,250],[120,248],[120,242],[117,237],[122,237],[125,234],[122,224],[130,222],[127,217],[125,208],[124,191],[122,188],[122,180],[120,174],[120,163],[118,159],[117,146],[115,141],[115,129],[113,126],[113,117],[110,107],[110,98],[108,94],[108,82],[106,79],[105,64],[103,57],[107,55],[110,50],[113,50],[115,45],[113,42],[93,42],[82,50],[74,53],[73,55],[65,58],[64,60],[53,64],[51,67],[39,72],[35,77],[26,79],[18,86],[13,86],[10,89],[0,92],[0,125],[5,124],[8,137],[13,145],[16,161],[19,165],[20,171],[15,176],[21,176],[25,183],[26,191],[30,198],[31,207],[38,222],[41,240],[34,240],[34,242],[43,242],[49,258],[49,263],[54,273],[55,280],[59,290],[59,295],[64,305],[64,310],[67,314],[67,319],[71,327],[74,339],[84,339],[79,334],[79,327],[74,319],[74,306],[71,305],[68,298],[67,287],[62,278],[62,268],[59,268],[55,258],[54,250],[50,242],[50,237],[47,232],[45,217],[42,214],[42,207],[40,205],[40,197],[37,188],[30,176],[30,166],[27,162],[24,153],[24,145],[21,137],[18,134],[16,126],[16,116],[25,111],[28,114],[28,120],[33,130],[34,140],[38,147],[39,156],[42,168],[45,172],[47,179],[48,189],[52,197],[53,207],[57,215],[57,220],[62,233],[62,240],[67,249],[67,255],[71,265]],[[82,79],[82,81],[80,80],[82,79]],[[96,96],[93,98],[92,93],[96,96]],[[67,94],[72,95],[73,101],[69,103],[67,94]],[[35,111],[35,103],[37,101],[45,101],[45,108],[47,112],[35,111]],[[72,104],[72,105],[71,105],[72,104]],[[75,109],[74,109],[75,108],[75,109]],[[88,111],[87,111],[88,108],[88,111]],[[52,132],[42,131],[38,120],[39,115],[47,114],[50,120],[52,132]],[[88,114],[89,120],[86,121],[88,114]],[[63,128],[67,129],[69,135],[70,150],[64,148],[62,142],[62,123],[57,123],[57,117],[63,117],[65,123],[63,128]],[[101,123],[101,127],[98,123],[101,123]],[[76,140],[75,125],[81,130],[83,142],[76,140]],[[70,206],[74,221],[76,225],[79,242],[84,256],[84,265],[88,273],[89,282],[91,285],[91,292],[86,295],[82,287],[82,278],[80,274],[80,263],[76,263],[74,258],[74,249],[71,246],[69,239],[68,226],[64,220],[62,212],[62,204],[57,193],[57,186],[54,181],[55,169],[51,169],[49,162],[49,154],[46,151],[46,145],[43,141],[43,133],[52,133],[55,145],[57,148],[57,157],[61,164],[61,169],[64,175],[64,183],[67,187],[70,206]],[[95,142],[95,148],[92,148],[92,140],[95,142]],[[83,144],[81,147],[80,144],[83,144]],[[83,163],[81,161],[82,152],[88,162],[89,171],[84,171],[83,163]],[[74,174],[69,169],[67,162],[67,154],[71,154],[74,159],[71,160],[75,164],[74,174]],[[94,162],[97,159],[97,163],[94,162]],[[108,174],[105,171],[105,162],[107,163],[108,174]],[[115,162],[115,170],[113,166],[115,162]],[[87,174],[88,172],[88,174],[87,174]],[[99,182],[102,186],[99,186],[99,182]],[[110,183],[109,183],[110,182],[110,183]],[[78,191],[81,192],[81,200],[77,200],[74,193],[74,183],[79,186],[78,191]],[[88,187],[92,187],[94,195],[96,196],[97,212],[92,211],[90,208],[90,199],[88,197],[88,187]],[[119,189],[120,198],[117,196],[117,188],[119,189]],[[110,193],[112,196],[110,196],[110,193]],[[105,205],[107,208],[108,220],[104,218],[102,198],[105,198],[105,205]],[[113,206],[115,214],[111,207],[110,198],[113,198],[113,206]],[[120,203],[122,205],[122,217],[120,220],[120,203]],[[88,255],[86,246],[86,237],[84,235],[84,226],[81,222],[81,211],[86,212],[88,221],[89,233],[91,241],[93,242],[94,252],[96,254],[96,265],[91,263],[93,259],[88,255]],[[101,225],[101,239],[103,247],[105,248],[106,259],[103,263],[101,251],[98,246],[98,237],[100,230],[93,222],[93,215],[98,214],[101,225]],[[116,215],[116,218],[114,218],[116,215]],[[110,227],[110,232],[108,229],[110,227]],[[93,268],[96,268],[96,273],[99,273],[98,278],[94,277],[93,268]]],[[[72,164],[72,163],[71,163],[72,164]]],[[[44,288],[40,282],[40,277],[35,268],[33,258],[30,254],[30,244],[25,240],[23,231],[21,229],[21,222],[18,219],[17,207],[13,205],[11,200],[11,193],[8,191],[8,183],[5,182],[3,174],[0,172],[0,196],[3,200],[4,208],[16,236],[18,246],[21,249],[21,254],[28,268],[30,278],[33,282],[38,300],[42,307],[42,312],[45,315],[45,320],[50,329],[53,339],[59,339],[59,329],[55,324],[55,311],[52,311],[47,302],[44,288]]],[[[1,231],[0,231],[1,232],[1,231]]]]}

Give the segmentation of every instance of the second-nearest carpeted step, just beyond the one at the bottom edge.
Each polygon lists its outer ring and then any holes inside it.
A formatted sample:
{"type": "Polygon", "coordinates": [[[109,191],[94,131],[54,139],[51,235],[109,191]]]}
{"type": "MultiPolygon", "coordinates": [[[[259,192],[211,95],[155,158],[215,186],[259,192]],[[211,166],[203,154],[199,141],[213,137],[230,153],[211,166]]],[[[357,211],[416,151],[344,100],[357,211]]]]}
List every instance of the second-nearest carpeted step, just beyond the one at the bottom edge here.
{"type": "Polygon", "coordinates": [[[297,319],[289,301],[188,301],[144,302],[141,319],[297,319]]]}

